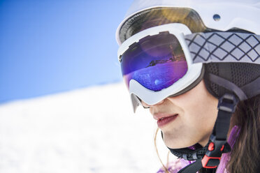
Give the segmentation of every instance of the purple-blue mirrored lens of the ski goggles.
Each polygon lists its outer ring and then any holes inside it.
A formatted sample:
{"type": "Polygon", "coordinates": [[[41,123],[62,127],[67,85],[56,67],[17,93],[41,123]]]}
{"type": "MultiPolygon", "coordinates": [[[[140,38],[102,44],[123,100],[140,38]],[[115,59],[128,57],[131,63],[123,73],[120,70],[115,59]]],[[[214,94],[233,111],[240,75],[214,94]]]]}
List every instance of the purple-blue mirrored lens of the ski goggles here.
{"type": "Polygon", "coordinates": [[[147,36],[124,52],[121,70],[129,87],[136,80],[152,91],[161,91],[187,73],[187,61],[178,39],[168,32],[147,36]]]}

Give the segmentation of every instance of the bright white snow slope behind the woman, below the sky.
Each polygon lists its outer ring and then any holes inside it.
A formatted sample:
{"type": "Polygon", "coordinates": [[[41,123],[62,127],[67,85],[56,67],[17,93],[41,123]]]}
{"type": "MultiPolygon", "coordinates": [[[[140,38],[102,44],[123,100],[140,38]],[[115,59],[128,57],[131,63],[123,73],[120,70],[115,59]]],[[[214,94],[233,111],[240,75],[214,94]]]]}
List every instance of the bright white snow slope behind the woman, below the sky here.
{"type": "MultiPolygon", "coordinates": [[[[156,122],[124,84],[0,105],[0,172],[157,172],[156,122]]],[[[168,150],[158,135],[161,159],[168,150]]]]}

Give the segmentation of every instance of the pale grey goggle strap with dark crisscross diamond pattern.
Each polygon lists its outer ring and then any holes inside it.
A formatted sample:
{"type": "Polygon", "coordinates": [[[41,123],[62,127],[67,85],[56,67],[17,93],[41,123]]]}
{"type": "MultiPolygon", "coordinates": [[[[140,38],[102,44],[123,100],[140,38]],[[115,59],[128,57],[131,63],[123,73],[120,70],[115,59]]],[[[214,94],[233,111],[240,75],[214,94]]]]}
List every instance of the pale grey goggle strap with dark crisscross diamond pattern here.
{"type": "Polygon", "coordinates": [[[185,36],[193,63],[260,64],[260,36],[252,33],[209,32],[185,36]]]}

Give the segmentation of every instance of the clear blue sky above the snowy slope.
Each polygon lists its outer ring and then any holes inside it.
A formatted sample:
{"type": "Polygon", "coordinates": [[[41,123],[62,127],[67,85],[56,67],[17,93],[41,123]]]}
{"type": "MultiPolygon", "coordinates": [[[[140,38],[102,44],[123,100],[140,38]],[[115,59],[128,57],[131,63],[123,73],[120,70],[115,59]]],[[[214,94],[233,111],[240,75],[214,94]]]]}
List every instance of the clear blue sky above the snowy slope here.
{"type": "Polygon", "coordinates": [[[132,0],[1,0],[0,103],[122,80],[115,31],[132,0]]]}

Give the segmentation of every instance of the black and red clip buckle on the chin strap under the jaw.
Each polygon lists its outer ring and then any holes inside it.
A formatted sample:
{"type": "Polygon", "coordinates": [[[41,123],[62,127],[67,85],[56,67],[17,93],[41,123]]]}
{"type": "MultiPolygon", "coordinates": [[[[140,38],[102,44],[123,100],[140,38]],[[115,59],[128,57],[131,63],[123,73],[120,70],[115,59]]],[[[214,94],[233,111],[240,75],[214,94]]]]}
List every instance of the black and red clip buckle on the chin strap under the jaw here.
{"type": "MultiPolygon", "coordinates": [[[[201,160],[202,166],[210,169],[216,168],[219,165],[225,144],[228,144],[226,140],[216,140],[215,135],[211,135],[208,151],[201,160]]],[[[226,148],[230,149],[230,147],[226,148]]]]}

